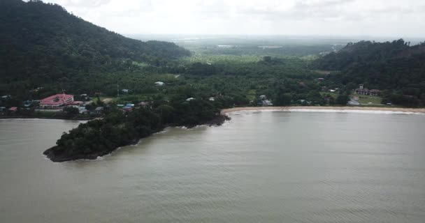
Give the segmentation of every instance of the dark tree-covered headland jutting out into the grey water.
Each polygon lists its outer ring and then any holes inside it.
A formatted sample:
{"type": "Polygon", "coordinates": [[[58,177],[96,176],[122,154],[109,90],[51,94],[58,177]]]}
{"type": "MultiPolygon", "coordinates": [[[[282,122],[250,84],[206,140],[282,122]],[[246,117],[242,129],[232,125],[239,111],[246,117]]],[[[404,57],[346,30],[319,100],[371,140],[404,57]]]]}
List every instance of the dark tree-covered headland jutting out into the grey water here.
{"type": "Polygon", "coordinates": [[[132,112],[110,107],[104,118],[80,124],[78,128],[62,134],[57,145],[44,154],[55,162],[96,159],[120,146],[134,144],[166,126],[220,125],[225,118],[207,100],[175,100],[132,112]]]}

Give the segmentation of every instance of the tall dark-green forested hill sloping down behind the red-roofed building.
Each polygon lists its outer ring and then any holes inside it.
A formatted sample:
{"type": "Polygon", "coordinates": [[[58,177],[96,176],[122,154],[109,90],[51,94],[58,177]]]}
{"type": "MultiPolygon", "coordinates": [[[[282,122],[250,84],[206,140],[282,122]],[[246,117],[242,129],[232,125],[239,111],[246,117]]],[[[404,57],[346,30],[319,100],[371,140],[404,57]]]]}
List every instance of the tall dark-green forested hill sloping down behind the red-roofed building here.
{"type": "Polygon", "coordinates": [[[10,77],[11,82],[69,77],[131,61],[160,66],[189,54],[174,43],[126,38],[57,4],[0,1],[0,77],[10,77]]]}

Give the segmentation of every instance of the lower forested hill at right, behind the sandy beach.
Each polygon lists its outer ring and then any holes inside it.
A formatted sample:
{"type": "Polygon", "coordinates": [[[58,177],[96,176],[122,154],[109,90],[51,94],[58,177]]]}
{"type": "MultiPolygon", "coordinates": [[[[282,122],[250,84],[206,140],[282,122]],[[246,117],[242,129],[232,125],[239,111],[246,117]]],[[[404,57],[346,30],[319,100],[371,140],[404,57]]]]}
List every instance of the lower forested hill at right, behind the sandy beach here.
{"type": "Polygon", "coordinates": [[[384,90],[384,97],[391,102],[409,106],[425,103],[425,43],[349,43],[339,52],[318,59],[315,66],[338,70],[338,75],[330,78],[341,84],[384,90]]]}

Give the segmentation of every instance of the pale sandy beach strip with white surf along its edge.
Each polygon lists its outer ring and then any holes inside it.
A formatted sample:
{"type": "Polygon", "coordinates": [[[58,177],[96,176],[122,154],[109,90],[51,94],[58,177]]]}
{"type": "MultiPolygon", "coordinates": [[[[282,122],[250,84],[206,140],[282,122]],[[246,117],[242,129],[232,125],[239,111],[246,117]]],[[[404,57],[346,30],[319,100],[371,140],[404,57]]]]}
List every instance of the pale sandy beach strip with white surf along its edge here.
{"type": "Polygon", "coordinates": [[[375,111],[375,112],[409,112],[409,113],[422,113],[425,114],[425,108],[403,108],[403,107],[343,107],[343,106],[287,106],[287,107],[233,107],[231,109],[222,109],[222,114],[229,114],[231,112],[245,112],[245,111],[286,111],[291,110],[340,110],[340,111],[375,111]]]}

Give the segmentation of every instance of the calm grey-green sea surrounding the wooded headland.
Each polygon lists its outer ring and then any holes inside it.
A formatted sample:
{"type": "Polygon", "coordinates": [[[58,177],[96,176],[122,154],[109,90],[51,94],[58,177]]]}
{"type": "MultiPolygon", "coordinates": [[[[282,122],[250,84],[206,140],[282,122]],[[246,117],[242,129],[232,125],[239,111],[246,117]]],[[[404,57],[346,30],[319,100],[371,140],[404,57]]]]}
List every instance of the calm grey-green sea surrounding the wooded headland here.
{"type": "Polygon", "coordinates": [[[0,120],[0,222],[425,222],[425,116],[239,112],[99,160],[77,121],[0,120]]]}

